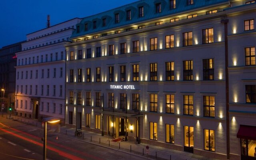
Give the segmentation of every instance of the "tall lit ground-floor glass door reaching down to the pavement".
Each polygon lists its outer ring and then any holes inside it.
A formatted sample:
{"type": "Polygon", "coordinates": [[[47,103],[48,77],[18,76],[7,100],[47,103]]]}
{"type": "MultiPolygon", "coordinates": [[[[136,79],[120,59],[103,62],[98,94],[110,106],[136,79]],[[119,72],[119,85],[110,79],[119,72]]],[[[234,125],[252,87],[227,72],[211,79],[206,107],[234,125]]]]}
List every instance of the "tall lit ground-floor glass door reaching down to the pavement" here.
{"type": "Polygon", "coordinates": [[[184,151],[193,153],[194,127],[184,126],[184,151]]]}

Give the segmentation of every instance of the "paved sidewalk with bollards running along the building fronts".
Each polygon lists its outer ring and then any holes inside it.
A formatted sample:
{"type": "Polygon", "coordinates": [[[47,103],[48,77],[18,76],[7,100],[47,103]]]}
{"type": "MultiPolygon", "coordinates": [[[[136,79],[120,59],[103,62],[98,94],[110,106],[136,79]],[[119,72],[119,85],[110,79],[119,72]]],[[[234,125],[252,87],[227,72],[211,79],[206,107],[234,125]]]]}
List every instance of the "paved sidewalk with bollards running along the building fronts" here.
{"type": "MultiPolygon", "coordinates": [[[[4,115],[4,117],[6,117],[4,115]]],[[[9,116],[7,115],[7,118],[9,116]]],[[[22,123],[30,124],[33,126],[37,126],[41,128],[41,122],[38,122],[33,119],[22,118],[20,116],[12,116],[13,120],[18,120],[22,123]]],[[[48,130],[55,130],[56,126],[48,125],[48,130]]],[[[168,148],[152,146],[148,144],[135,144],[134,141],[126,141],[126,142],[112,142],[112,136],[101,136],[101,134],[97,134],[94,132],[84,132],[84,137],[78,138],[74,136],[75,129],[67,128],[65,126],[60,128],[60,133],[62,135],[67,135],[70,138],[80,139],[81,141],[95,144],[98,146],[102,146],[105,148],[110,148],[112,150],[118,150],[120,152],[126,152],[129,154],[133,154],[136,156],[140,156],[141,158],[147,158],[151,160],[216,160],[213,158],[206,158],[204,156],[198,156],[188,152],[181,152],[177,150],[171,150],[168,148]],[[92,138],[92,139],[91,139],[92,138]],[[120,148],[119,148],[120,146],[120,148]],[[146,154],[146,146],[149,146],[149,154],[146,154]],[[144,155],[143,155],[144,148],[144,155]]]]}

